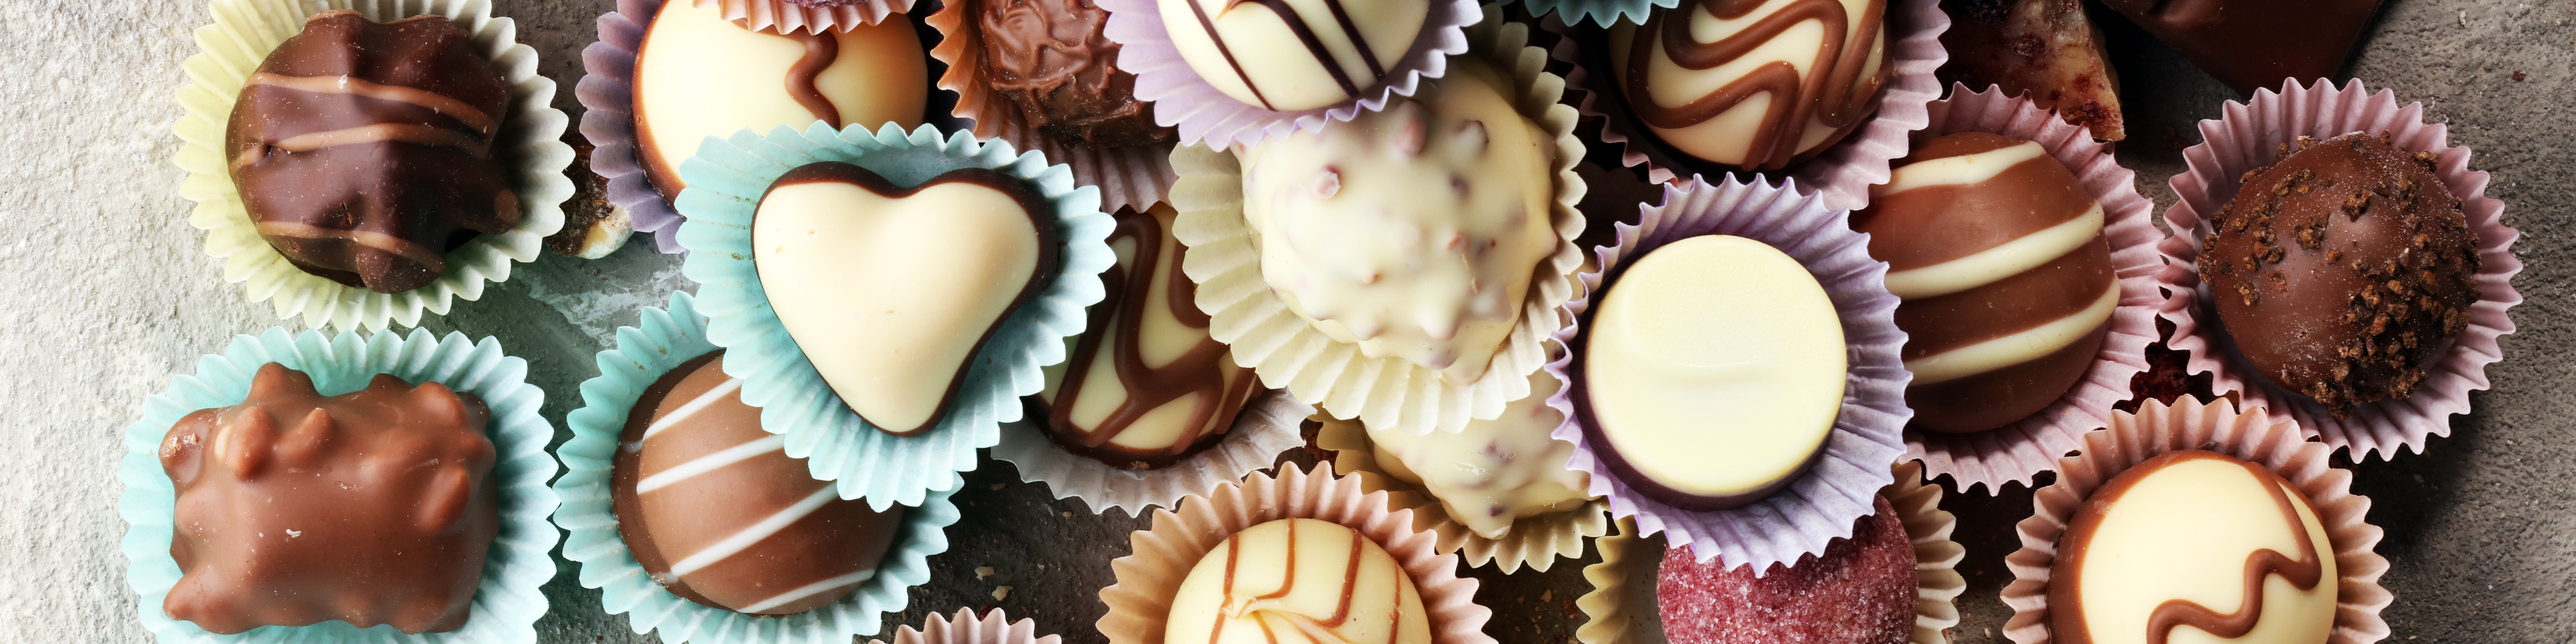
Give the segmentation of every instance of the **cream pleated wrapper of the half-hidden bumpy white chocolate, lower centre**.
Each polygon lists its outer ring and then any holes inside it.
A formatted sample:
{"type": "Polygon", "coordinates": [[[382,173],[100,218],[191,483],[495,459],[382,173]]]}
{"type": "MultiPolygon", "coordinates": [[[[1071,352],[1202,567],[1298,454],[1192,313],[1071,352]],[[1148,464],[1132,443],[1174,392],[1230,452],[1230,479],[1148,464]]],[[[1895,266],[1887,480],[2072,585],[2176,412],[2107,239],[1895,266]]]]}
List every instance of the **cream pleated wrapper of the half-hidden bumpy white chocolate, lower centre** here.
{"type": "Polygon", "coordinates": [[[1556,556],[1584,559],[1584,538],[1610,533],[1610,505],[1589,500],[1574,510],[1530,515],[1512,520],[1499,538],[1479,536],[1466,523],[1450,518],[1448,505],[1430,489],[1399,482],[1378,469],[1376,443],[1355,422],[1324,422],[1314,435],[1316,448],[1334,451],[1332,469],[1350,471],[1370,492],[1386,489],[1386,502],[1414,510],[1414,528],[1440,538],[1440,551],[1455,551],[1468,567],[1494,564],[1502,574],[1520,572],[1522,564],[1548,572],[1556,556]]]}

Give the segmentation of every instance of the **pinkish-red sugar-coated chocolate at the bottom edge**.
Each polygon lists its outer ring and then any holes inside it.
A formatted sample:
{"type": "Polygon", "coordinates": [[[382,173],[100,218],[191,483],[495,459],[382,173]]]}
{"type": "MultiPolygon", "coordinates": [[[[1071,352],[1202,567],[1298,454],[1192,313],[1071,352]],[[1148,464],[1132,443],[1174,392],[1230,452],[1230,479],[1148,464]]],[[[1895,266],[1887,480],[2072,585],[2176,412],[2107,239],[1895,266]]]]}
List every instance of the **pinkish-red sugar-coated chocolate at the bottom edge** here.
{"type": "Polygon", "coordinates": [[[1886,497],[1878,513],[1795,567],[1728,569],[1690,546],[1667,549],[1656,616],[1674,644],[1904,644],[1914,636],[1914,538],[1886,497]]]}

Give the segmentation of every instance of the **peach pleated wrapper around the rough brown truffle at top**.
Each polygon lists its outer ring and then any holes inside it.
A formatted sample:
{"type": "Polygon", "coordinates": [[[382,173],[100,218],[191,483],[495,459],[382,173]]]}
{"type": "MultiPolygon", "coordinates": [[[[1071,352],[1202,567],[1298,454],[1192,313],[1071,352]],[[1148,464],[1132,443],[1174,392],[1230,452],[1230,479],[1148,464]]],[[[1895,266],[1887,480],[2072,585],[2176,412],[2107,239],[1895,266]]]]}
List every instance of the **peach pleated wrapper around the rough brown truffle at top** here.
{"type": "Polygon", "coordinates": [[[1020,106],[1002,100],[984,82],[984,28],[976,15],[966,15],[966,3],[948,3],[922,21],[940,31],[940,44],[930,49],[930,57],[945,62],[948,72],[940,75],[938,85],[958,93],[958,106],[951,113],[974,121],[974,137],[1005,139],[1074,167],[1074,183],[1100,188],[1103,211],[1146,211],[1172,193],[1177,175],[1172,175],[1170,144],[1079,147],[1028,126],[1020,106]]]}

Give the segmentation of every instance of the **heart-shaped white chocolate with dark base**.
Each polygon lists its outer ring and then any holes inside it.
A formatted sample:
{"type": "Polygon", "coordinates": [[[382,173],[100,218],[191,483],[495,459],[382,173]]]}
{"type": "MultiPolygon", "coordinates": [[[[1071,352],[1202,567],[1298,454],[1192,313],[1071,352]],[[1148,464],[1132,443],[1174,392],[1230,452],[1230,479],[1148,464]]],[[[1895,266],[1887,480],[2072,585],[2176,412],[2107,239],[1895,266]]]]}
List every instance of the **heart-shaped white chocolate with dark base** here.
{"type": "Polygon", "coordinates": [[[778,322],[850,412],[938,428],[969,358],[1056,278],[1054,209],[987,167],[899,188],[848,162],[788,170],[752,211],[752,268],[778,322]]]}

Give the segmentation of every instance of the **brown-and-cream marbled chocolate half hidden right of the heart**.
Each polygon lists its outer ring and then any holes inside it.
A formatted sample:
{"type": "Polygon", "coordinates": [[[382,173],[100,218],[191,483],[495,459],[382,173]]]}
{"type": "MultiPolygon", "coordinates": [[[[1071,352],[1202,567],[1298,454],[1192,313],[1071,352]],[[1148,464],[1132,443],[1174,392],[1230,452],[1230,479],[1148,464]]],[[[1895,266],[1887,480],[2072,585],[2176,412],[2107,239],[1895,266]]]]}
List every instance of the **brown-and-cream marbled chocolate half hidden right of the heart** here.
{"type": "Polygon", "coordinates": [[[1100,273],[1108,296],[1092,304],[1064,363],[1046,368],[1038,412],[1046,435],[1072,453],[1123,469],[1159,469],[1216,446],[1255,392],[1249,368],[1208,337],[1198,286],[1180,273],[1172,206],[1118,209],[1100,273]]]}

